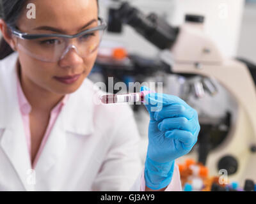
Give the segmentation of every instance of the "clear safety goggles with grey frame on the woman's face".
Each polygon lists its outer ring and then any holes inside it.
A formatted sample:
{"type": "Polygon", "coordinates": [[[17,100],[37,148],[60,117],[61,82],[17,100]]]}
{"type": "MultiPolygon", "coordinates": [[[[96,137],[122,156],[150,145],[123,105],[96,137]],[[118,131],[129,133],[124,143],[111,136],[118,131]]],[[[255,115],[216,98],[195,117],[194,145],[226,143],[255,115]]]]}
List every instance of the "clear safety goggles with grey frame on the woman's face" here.
{"type": "Polygon", "coordinates": [[[77,54],[86,58],[95,52],[107,27],[102,18],[98,18],[97,27],[86,29],[74,35],[67,34],[28,34],[21,33],[12,26],[13,36],[17,37],[17,47],[26,54],[44,62],[58,62],[74,48],[77,54]]]}

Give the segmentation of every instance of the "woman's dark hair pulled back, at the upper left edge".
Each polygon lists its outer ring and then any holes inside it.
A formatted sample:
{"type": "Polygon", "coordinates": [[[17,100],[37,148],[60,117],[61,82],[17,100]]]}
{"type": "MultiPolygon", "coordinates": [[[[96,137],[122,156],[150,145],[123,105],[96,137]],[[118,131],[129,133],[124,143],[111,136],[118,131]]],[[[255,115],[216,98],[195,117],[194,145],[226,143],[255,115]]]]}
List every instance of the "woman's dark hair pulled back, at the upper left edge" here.
{"type": "MultiPolygon", "coordinates": [[[[15,27],[17,19],[19,18],[27,1],[28,0],[0,0],[0,18],[3,18],[6,24],[15,27]]],[[[98,1],[99,0],[97,0],[97,4],[99,7],[98,1]]],[[[2,38],[0,41],[0,60],[12,53],[12,48],[4,38],[2,38]]]]}

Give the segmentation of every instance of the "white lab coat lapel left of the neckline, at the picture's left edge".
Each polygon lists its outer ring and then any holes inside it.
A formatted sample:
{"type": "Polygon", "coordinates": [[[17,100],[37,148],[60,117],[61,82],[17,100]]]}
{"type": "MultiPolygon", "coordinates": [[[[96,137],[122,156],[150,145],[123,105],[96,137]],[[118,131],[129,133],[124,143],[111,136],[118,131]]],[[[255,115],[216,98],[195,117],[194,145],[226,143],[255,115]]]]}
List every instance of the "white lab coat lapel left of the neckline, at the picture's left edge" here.
{"type": "Polygon", "coordinates": [[[34,186],[28,182],[31,162],[18,104],[16,61],[17,55],[12,54],[0,63],[0,128],[4,129],[0,142],[24,188],[33,191],[34,186]]]}

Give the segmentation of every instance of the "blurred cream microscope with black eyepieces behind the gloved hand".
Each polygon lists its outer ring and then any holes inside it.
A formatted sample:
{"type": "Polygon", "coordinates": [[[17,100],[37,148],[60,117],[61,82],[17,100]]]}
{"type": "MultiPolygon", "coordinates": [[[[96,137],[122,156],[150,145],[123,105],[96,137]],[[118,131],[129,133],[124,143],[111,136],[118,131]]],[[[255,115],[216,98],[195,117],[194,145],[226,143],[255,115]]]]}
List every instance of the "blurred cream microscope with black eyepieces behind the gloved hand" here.
{"type": "MultiPolygon", "coordinates": [[[[109,29],[120,31],[122,25],[130,25],[159,48],[158,58],[164,69],[177,76],[177,95],[198,110],[198,144],[182,159],[194,157],[209,168],[211,175],[225,170],[229,180],[256,180],[255,66],[221,54],[204,33],[204,17],[200,15],[188,14],[183,25],[172,27],[154,13],[144,15],[129,3],[122,3],[111,10],[111,22],[115,26],[109,29]],[[220,92],[222,98],[228,98],[228,111],[223,109],[221,115],[214,115],[211,113],[215,110],[207,103],[220,92]],[[205,96],[208,101],[204,101],[205,96]]],[[[168,80],[166,83],[172,86],[168,80]]],[[[214,105],[221,109],[218,103],[214,105]]]]}

